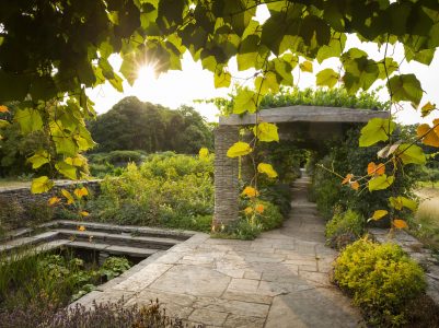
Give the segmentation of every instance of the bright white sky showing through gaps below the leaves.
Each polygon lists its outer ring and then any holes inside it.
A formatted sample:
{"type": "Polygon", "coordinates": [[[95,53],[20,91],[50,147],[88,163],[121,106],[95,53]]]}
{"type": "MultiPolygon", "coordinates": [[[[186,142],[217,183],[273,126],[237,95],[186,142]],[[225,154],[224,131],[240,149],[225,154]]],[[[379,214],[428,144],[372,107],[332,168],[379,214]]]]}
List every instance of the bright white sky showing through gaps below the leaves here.
{"type": "MultiPolygon", "coordinates": [[[[261,14],[259,16],[263,16],[261,14]]],[[[261,21],[264,17],[259,19],[261,21]]],[[[373,44],[361,44],[355,36],[349,37],[345,49],[351,47],[358,47],[366,50],[372,59],[379,60],[383,57],[384,49],[379,51],[378,47],[373,44]]],[[[400,62],[403,59],[402,47],[393,47],[388,50],[388,54],[393,55],[394,59],[400,62]]],[[[113,55],[109,58],[112,66],[118,70],[122,60],[120,57],[113,55]]],[[[339,62],[335,59],[328,59],[319,66],[314,61],[314,74],[324,68],[336,69],[339,62]]],[[[229,70],[233,77],[231,87],[234,83],[242,84],[243,79],[253,75],[252,71],[239,72],[234,58],[229,63],[229,70]]],[[[421,105],[427,102],[439,105],[439,56],[436,56],[429,67],[412,62],[403,62],[401,67],[402,73],[415,73],[420,80],[423,89],[425,91],[421,105]]],[[[312,73],[300,73],[296,69],[293,71],[294,83],[300,89],[309,86],[315,87],[315,75],[312,73]]],[[[380,82],[382,84],[382,82],[380,82]]],[[[371,90],[377,87],[379,84],[372,85],[371,90]]],[[[218,96],[227,96],[231,92],[231,87],[215,89],[212,73],[203,70],[200,61],[194,62],[190,55],[186,52],[182,61],[182,71],[169,71],[162,73],[160,77],[154,77],[154,73],[149,68],[140,69],[139,78],[132,86],[126,81],[124,82],[124,93],[118,93],[114,90],[109,83],[101,85],[96,89],[89,90],[88,94],[91,99],[95,103],[95,109],[99,114],[103,114],[109,110],[113,105],[119,102],[122,98],[130,95],[137,96],[142,102],[150,102],[154,104],[161,104],[170,108],[177,108],[178,106],[186,104],[197,109],[204,117],[209,121],[217,121],[218,110],[212,104],[199,104],[194,103],[194,99],[207,99],[218,96]]],[[[383,90],[380,93],[382,99],[386,99],[388,93],[383,90]]],[[[412,108],[411,105],[405,104],[404,110],[397,113],[397,120],[403,124],[415,124],[415,122],[431,122],[434,118],[439,117],[439,110],[434,112],[427,119],[421,119],[419,112],[412,108]]]]}

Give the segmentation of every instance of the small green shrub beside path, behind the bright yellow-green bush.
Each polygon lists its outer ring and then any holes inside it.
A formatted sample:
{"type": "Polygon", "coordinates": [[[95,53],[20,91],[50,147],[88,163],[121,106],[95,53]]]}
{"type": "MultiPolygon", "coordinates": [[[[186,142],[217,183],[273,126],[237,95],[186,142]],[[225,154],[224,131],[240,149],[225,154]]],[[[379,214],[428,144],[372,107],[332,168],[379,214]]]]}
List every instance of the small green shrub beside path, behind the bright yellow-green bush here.
{"type": "Polygon", "coordinates": [[[365,219],[353,210],[336,211],[326,223],[325,235],[331,247],[342,248],[357,241],[365,232],[365,219]]]}

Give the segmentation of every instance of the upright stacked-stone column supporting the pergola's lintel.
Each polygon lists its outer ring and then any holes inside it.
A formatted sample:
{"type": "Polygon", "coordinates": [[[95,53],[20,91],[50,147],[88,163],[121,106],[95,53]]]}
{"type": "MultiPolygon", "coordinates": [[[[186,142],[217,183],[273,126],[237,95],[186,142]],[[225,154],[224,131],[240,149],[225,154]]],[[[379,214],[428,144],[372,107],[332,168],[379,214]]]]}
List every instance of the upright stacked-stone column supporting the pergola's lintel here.
{"type": "Polygon", "coordinates": [[[219,126],[215,130],[215,226],[228,225],[239,218],[238,159],[227,156],[238,140],[236,126],[219,126]]]}

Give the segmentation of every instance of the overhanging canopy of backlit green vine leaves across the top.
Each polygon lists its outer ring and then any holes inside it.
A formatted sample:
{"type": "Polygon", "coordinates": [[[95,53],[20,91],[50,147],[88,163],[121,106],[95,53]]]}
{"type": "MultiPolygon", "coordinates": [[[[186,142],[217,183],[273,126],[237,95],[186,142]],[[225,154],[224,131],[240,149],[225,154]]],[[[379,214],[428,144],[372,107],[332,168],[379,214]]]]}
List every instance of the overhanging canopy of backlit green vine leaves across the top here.
{"type": "MultiPolygon", "coordinates": [[[[400,72],[391,50],[397,43],[407,61],[431,62],[439,46],[436,0],[1,1],[0,102],[20,102],[15,121],[22,132],[43,130],[57,153],[39,152],[38,163],[54,161],[65,174],[82,165],[76,161],[78,152],[94,145],[84,124],[94,116],[85,89],[108,81],[123,91],[123,77],[132,84],[141,65],[181,69],[182,56],[189,51],[221,87],[231,83],[228,63],[235,58],[239,70],[256,70],[254,90],[243,90],[234,99],[233,112],[242,114],[257,110],[261,95],[293,85],[296,67],[312,71],[312,60],[335,57],[340,69],[317,72],[317,85],[342,81],[356,93],[383,80],[392,102],[417,107],[423,89],[415,74],[400,72]],[[259,23],[255,15],[262,5],[269,17],[259,23]],[[382,47],[382,58],[347,49],[348,34],[382,47]],[[114,52],[123,58],[119,72],[108,63],[114,52]]],[[[428,114],[436,106],[423,108],[428,114]]],[[[48,187],[44,177],[34,191],[48,187]]]]}

